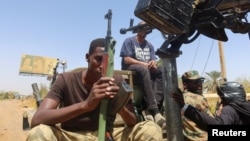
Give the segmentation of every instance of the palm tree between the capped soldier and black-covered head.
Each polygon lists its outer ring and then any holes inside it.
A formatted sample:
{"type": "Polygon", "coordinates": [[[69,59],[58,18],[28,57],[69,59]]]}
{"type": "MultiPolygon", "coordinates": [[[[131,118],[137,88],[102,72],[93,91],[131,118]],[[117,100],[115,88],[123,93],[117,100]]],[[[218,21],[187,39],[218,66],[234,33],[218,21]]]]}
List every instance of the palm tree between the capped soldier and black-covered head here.
{"type": "Polygon", "coordinates": [[[216,87],[223,83],[221,72],[218,71],[206,72],[205,78],[203,86],[208,93],[216,93],[216,87]]]}

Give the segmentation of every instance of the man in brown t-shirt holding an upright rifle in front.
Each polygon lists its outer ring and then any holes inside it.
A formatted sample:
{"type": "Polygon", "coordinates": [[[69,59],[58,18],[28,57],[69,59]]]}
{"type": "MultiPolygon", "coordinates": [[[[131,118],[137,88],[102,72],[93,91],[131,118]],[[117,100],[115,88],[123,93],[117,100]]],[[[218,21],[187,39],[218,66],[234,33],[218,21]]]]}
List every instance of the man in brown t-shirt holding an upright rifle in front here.
{"type": "Polygon", "coordinates": [[[152,121],[137,121],[131,99],[119,109],[117,105],[112,105],[120,96],[120,84],[124,80],[120,75],[113,78],[102,76],[104,46],[104,38],[93,40],[86,54],[88,68],[58,75],[32,118],[32,129],[27,141],[97,141],[102,99],[109,99],[107,138],[113,136],[116,141],[162,139],[161,129],[157,124],[152,121]],[[113,109],[117,111],[111,112],[113,109]],[[116,114],[122,117],[124,126],[113,128],[116,114]],[[57,126],[58,124],[61,126],[57,126]]]}

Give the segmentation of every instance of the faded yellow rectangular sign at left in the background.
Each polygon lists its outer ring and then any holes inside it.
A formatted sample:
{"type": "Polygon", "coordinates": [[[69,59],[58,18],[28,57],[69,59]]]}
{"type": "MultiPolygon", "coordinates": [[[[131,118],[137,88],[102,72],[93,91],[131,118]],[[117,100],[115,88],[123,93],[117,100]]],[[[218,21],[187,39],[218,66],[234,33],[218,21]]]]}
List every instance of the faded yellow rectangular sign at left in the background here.
{"type": "Polygon", "coordinates": [[[22,55],[19,74],[53,74],[57,63],[58,59],[56,58],[22,55]]]}

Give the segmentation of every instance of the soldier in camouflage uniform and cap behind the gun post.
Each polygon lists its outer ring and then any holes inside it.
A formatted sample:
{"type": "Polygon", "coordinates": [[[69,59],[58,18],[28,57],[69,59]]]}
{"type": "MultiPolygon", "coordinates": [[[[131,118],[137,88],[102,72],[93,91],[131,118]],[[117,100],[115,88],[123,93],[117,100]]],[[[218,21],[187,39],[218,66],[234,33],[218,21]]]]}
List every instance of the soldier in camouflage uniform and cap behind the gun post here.
{"type": "MultiPolygon", "coordinates": [[[[185,72],[181,78],[185,103],[192,105],[199,111],[204,112],[209,116],[213,116],[207,99],[202,95],[204,78],[200,77],[199,73],[195,70],[185,72]]],[[[182,123],[185,140],[207,140],[207,132],[200,129],[193,121],[185,116],[182,116],[182,123]]]]}

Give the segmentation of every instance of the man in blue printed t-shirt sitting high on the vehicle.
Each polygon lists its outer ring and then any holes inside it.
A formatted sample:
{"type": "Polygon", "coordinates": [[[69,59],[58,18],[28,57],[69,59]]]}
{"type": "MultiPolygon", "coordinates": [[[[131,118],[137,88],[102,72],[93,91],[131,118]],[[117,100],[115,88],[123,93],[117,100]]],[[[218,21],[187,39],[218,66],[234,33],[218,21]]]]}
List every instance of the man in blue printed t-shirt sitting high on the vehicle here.
{"type": "MultiPolygon", "coordinates": [[[[140,22],[138,25],[146,24],[140,22]]],[[[135,72],[135,79],[139,80],[143,89],[145,107],[155,120],[162,126],[165,118],[161,115],[156,101],[156,78],[161,74],[157,67],[154,46],[146,40],[147,30],[138,31],[136,36],[129,37],[123,42],[120,57],[122,70],[135,72]]]]}

